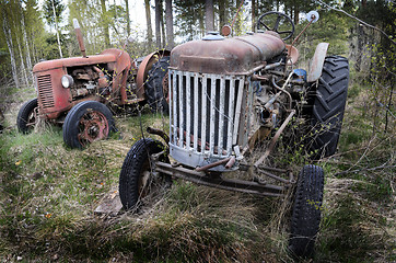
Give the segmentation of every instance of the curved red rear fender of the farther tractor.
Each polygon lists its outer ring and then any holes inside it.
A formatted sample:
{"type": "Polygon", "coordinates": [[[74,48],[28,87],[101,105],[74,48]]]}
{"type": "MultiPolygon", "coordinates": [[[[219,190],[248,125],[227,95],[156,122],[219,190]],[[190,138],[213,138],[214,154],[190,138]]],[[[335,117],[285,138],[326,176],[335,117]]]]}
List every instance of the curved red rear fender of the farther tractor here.
{"type": "Polygon", "coordinates": [[[161,57],[165,56],[171,56],[171,52],[166,49],[153,52],[150,55],[145,56],[139,65],[138,75],[136,77],[136,93],[138,99],[144,99],[144,83],[151,67],[153,66],[153,64],[160,60],[161,57]]]}

